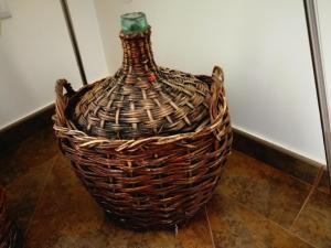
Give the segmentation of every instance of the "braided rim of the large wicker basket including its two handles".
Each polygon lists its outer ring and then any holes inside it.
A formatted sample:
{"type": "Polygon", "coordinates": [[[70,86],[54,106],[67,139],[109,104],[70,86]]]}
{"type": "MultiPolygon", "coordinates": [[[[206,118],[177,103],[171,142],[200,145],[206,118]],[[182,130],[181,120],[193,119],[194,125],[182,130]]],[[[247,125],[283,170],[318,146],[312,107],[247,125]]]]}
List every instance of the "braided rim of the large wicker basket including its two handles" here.
{"type": "MultiPolygon", "coordinates": [[[[220,67],[218,67],[220,68],[220,67]]],[[[228,106],[227,106],[227,100],[226,100],[226,96],[225,94],[221,91],[221,89],[224,87],[223,86],[223,78],[218,78],[218,76],[213,75],[212,76],[207,76],[207,75],[195,75],[195,76],[204,76],[204,77],[209,77],[212,79],[212,86],[211,89],[212,90],[218,90],[220,93],[215,93],[216,96],[216,103],[211,103],[211,116],[210,116],[210,123],[202,127],[202,128],[197,128],[197,130],[195,131],[190,131],[190,132],[183,132],[183,133],[175,133],[175,134],[169,134],[169,136],[152,136],[152,137],[143,137],[143,138],[138,138],[138,139],[109,139],[109,138],[105,138],[105,137],[93,137],[93,136],[88,136],[86,132],[78,130],[75,125],[67,119],[64,116],[64,112],[66,110],[66,108],[68,107],[68,101],[71,100],[68,97],[63,95],[63,85],[67,84],[65,79],[60,79],[57,80],[57,85],[55,88],[56,91],[56,103],[55,103],[55,115],[53,115],[52,119],[54,121],[54,130],[57,132],[58,138],[64,138],[66,136],[72,136],[75,137],[75,140],[77,141],[77,143],[79,143],[79,147],[88,147],[88,145],[102,145],[102,144],[118,144],[119,147],[116,149],[117,151],[121,151],[126,148],[131,148],[131,147],[136,147],[138,144],[142,144],[142,143],[153,143],[157,145],[160,144],[166,144],[166,143],[171,143],[171,142],[177,142],[180,140],[184,140],[184,139],[192,139],[192,138],[196,138],[200,136],[205,136],[205,134],[210,134],[212,132],[215,132],[216,129],[218,127],[222,126],[222,121],[223,121],[223,116],[224,115],[228,115],[228,106]],[[213,85],[218,85],[218,87],[213,89],[213,85]],[[220,103],[221,107],[220,107],[220,103]],[[215,106],[213,106],[213,104],[215,106]],[[213,109],[216,109],[216,116],[213,115],[213,109]],[[62,133],[62,134],[61,134],[62,133]]],[[[109,77],[105,77],[103,79],[96,80],[92,84],[88,84],[86,86],[81,87],[76,94],[81,93],[83,89],[86,89],[88,87],[94,87],[94,85],[98,82],[102,82],[106,78],[109,77]]],[[[217,134],[215,134],[215,137],[217,139],[220,139],[220,137],[223,136],[223,133],[226,132],[227,129],[231,129],[231,126],[227,128],[222,128],[220,133],[220,130],[217,130],[217,134]]]]}

